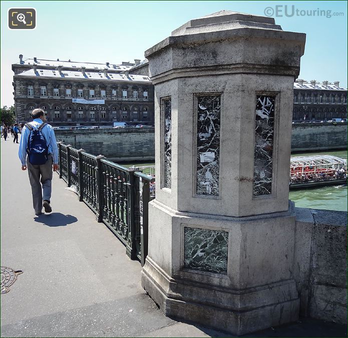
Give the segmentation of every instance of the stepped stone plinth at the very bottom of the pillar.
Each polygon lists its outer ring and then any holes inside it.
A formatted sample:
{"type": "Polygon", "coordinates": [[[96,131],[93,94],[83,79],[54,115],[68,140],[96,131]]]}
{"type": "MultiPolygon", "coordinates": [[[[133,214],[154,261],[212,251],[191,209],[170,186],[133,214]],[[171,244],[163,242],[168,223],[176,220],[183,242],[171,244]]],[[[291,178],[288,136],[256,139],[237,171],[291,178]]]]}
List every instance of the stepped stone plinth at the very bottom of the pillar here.
{"type": "Polygon", "coordinates": [[[170,278],[149,256],[141,283],[166,316],[240,335],[298,320],[293,279],[240,290],[170,278]]]}

